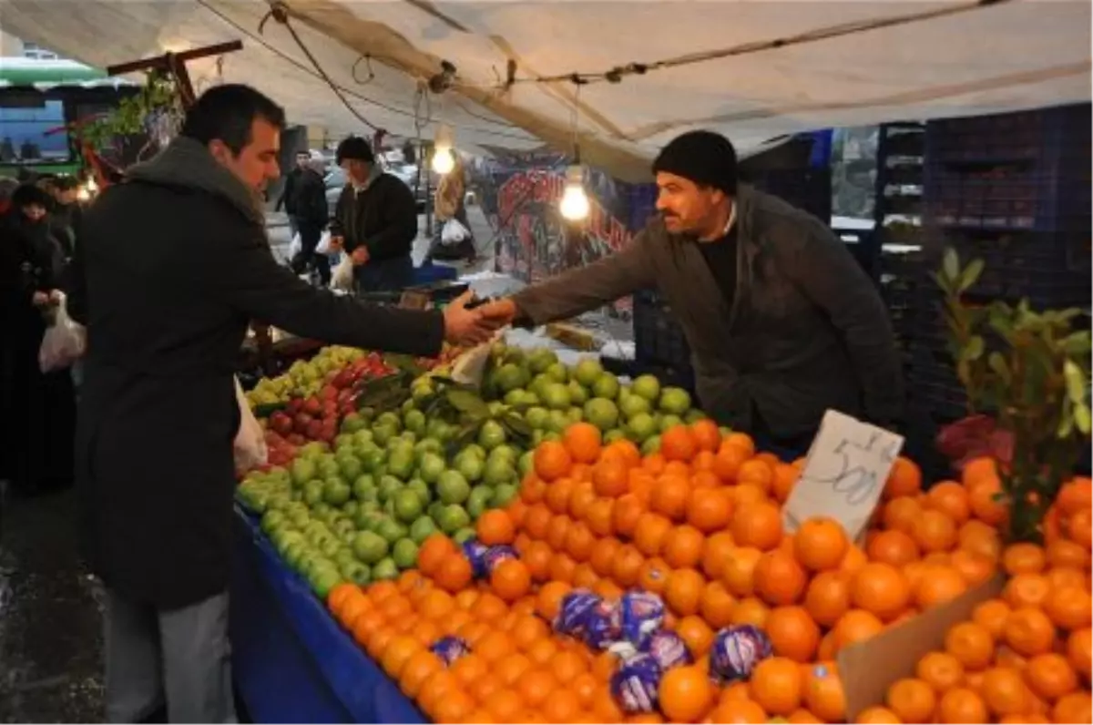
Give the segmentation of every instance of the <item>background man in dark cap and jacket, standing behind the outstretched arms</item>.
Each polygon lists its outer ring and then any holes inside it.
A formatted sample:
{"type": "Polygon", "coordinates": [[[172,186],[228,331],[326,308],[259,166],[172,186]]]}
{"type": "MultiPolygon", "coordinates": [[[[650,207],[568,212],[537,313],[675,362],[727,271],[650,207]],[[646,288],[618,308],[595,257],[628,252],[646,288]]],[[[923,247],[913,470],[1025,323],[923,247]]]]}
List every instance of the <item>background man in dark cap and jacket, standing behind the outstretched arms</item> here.
{"type": "Polygon", "coordinates": [[[349,184],[330,222],[331,245],[353,260],[359,292],[406,289],[413,282],[410,253],[418,236],[413,191],[379,168],[362,138],[342,141],[336,157],[349,184]]]}

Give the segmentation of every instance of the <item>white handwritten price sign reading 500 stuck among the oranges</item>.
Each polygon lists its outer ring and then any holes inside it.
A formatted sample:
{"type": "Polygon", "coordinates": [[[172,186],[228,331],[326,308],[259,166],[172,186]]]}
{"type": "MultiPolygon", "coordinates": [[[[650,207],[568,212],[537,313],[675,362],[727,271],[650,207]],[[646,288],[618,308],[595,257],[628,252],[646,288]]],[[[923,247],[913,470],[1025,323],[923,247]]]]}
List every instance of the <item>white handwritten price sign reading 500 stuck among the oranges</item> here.
{"type": "Polygon", "coordinates": [[[786,529],[826,516],[856,540],[877,507],[903,436],[828,410],[783,508],[786,529]]]}

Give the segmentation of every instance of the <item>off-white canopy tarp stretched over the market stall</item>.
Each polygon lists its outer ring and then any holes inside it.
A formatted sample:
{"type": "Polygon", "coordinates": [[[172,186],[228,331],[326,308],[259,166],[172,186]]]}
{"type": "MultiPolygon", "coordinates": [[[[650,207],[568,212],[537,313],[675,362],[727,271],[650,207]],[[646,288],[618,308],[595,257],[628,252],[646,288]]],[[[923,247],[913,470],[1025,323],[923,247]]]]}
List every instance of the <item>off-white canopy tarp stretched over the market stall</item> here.
{"type": "Polygon", "coordinates": [[[371,129],[321,73],[368,124],[428,138],[447,122],[459,147],[567,149],[576,119],[584,161],[628,180],[691,128],[745,150],[801,130],[1093,100],[1093,0],[283,5],[321,72],[284,24],[262,23],[261,0],[0,0],[0,27],[101,67],[242,39],[242,51],[191,63],[198,90],[250,83],[294,122],[334,135],[371,129]],[[442,60],[453,89],[423,96],[442,60]],[[601,80],[634,65],[647,71],[601,80]],[[579,93],[536,80],[575,72],[592,77],[579,93]]]}

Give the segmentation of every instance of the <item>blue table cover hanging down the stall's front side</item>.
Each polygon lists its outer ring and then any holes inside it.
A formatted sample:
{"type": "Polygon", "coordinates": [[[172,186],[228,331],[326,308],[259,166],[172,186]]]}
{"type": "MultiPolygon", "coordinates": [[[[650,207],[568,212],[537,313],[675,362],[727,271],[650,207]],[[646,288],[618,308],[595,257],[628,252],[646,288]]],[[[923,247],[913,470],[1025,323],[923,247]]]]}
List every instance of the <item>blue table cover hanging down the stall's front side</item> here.
{"type": "Polygon", "coordinates": [[[425,725],[427,720],[236,507],[231,636],[258,725],[425,725]]]}

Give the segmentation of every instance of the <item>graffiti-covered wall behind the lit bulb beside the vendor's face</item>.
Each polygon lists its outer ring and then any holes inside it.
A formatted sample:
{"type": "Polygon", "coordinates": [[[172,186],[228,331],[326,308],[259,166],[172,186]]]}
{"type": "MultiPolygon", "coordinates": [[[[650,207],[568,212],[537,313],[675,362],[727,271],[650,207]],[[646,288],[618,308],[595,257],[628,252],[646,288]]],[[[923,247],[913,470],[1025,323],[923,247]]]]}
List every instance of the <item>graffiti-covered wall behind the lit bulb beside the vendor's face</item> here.
{"type": "MultiPolygon", "coordinates": [[[[563,156],[498,162],[485,176],[482,203],[497,230],[496,271],[528,283],[567,269],[589,265],[630,244],[635,230],[628,223],[632,187],[587,169],[585,188],[591,210],[579,225],[559,211],[565,188],[567,160],[563,156]]],[[[630,300],[613,306],[628,315],[630,300]]]]}

